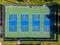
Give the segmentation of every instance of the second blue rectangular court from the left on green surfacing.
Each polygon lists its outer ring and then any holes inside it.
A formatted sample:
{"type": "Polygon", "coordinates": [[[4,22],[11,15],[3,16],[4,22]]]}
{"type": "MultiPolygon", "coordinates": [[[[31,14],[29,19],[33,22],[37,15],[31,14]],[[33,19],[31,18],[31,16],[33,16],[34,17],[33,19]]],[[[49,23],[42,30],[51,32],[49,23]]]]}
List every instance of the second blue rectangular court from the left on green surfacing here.
{"type": "Polygon", "coordinates": [[[29,26],[29,16],[28,14],[21,14],[21,32],[28,32],[29,26]]]}

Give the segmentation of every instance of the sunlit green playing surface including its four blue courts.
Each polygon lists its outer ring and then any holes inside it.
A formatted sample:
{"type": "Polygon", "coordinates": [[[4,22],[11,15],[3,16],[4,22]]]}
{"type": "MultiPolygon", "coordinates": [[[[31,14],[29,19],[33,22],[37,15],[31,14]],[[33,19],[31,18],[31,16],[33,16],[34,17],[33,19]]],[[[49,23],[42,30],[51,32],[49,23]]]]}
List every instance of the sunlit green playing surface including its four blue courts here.
{"type": "Polygon", "coordinates": [[[5,6],[6,38],[50,38],[53,30],[47,6],[5,6]]]}

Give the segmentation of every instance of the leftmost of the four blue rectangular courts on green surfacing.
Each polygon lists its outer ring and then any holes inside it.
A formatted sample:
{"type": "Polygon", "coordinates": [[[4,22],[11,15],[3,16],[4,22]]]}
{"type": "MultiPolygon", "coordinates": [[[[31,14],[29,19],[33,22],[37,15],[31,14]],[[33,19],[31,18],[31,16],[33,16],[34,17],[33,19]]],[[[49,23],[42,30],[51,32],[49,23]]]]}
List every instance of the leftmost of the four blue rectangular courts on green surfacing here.
{"type": "Polygon", "coordinates": [[[10,14],[9,15],[9,32],[17,31],[17,15],[10,14]]]}

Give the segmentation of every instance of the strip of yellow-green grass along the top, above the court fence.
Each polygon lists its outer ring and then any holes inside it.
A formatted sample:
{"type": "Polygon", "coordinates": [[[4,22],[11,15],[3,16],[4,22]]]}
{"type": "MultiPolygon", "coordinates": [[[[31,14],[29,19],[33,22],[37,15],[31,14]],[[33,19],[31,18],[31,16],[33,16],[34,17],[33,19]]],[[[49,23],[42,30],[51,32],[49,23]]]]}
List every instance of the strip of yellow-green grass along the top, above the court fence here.
{"type": "MultiPolygon", "coordinates": [[[[16,0],[0,0],[0,4],[51,4],[50,1],[45,2],[44,0],[39,1],[39,0],[32,0],[30,2],[22,2],[22,1],[16,1],[16,0]],[[2,2],[3,1],[3,2],[2,2]]],[[[60,0],[55,0],[52,1],[53,4],[60,4],[60,0]]]]}

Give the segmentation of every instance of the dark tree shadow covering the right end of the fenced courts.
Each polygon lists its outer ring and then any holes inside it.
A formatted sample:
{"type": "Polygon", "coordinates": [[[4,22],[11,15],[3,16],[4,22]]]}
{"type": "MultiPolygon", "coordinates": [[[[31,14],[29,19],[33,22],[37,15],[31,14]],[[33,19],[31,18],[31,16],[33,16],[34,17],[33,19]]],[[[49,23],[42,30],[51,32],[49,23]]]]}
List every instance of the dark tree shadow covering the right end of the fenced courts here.
{"type": "Polygon", "coordinates": [[[48,5],[50,9],[50,14],[46,15],[50,19],[50,37],[55,38],[54,34],[56,34],[56,40],[58,40],[58,5],[48,5]]]}

